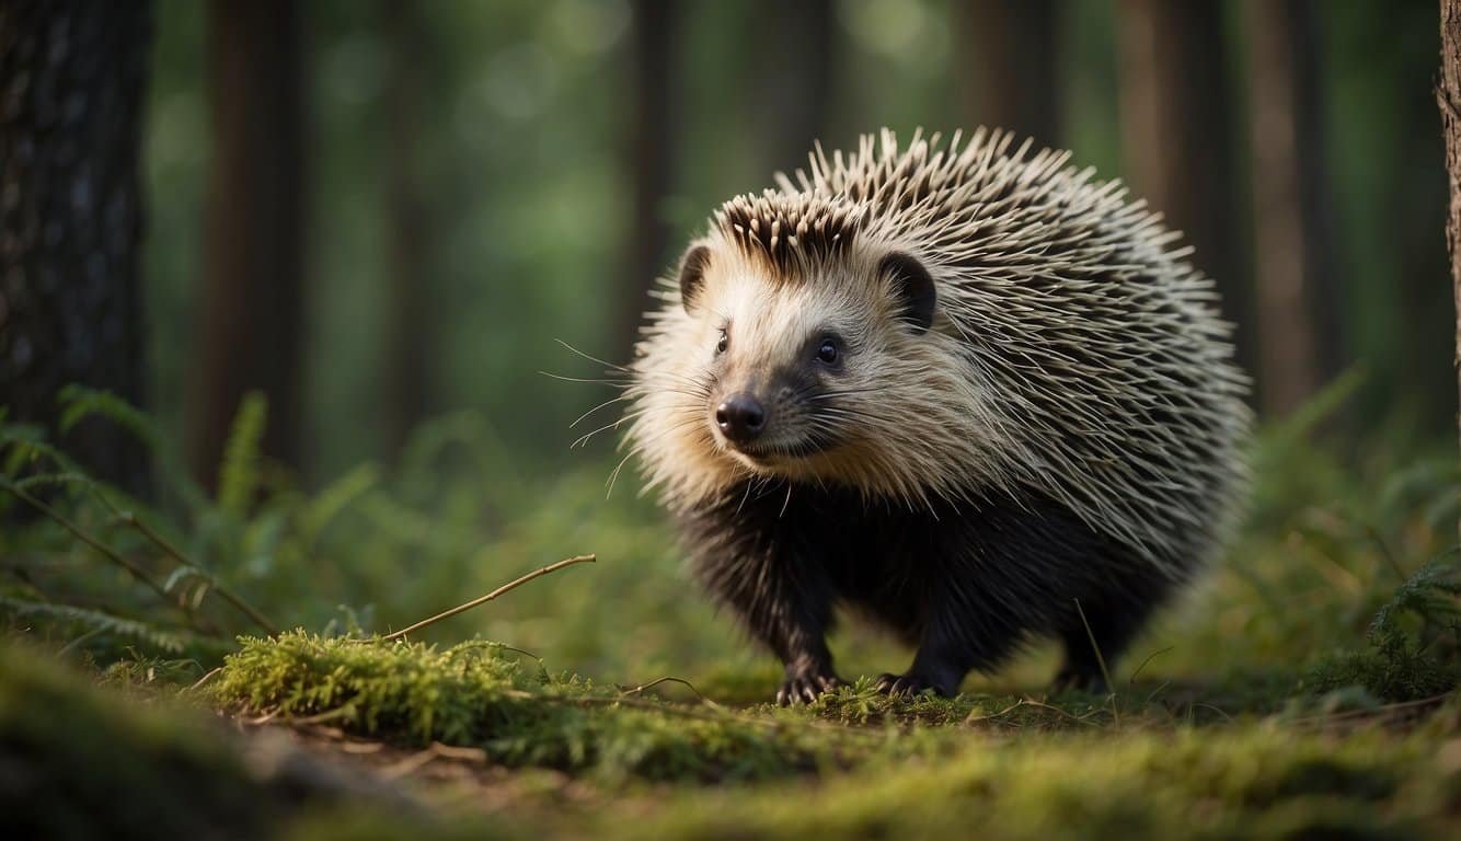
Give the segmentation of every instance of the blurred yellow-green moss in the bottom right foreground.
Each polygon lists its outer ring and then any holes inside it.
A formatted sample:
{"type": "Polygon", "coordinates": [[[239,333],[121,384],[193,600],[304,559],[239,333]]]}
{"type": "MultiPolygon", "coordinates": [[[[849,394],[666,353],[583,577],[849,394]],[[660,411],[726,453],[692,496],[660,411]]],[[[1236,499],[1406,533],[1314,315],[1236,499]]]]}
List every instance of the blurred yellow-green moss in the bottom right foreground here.
{"type": "Polygon", "coordinates": [[[308,822],[297,837],[1446,838],[1457,829],[1461,768],[1435,736],[1277,723],[1014,740],[966,731],[938,762],[881,762],[792,784],[660,788],[652,809],[633,799],[609,809],[529,807],[427,832],[356,815],[308,822]]]}

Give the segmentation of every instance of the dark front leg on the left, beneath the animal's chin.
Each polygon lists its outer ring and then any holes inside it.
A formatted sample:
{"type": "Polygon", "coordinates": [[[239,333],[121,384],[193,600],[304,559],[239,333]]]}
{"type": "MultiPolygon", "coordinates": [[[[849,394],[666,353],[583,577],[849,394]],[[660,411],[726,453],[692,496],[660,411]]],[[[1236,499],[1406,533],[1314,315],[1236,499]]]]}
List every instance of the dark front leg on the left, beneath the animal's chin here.
{"type": "Polygon", "coordinates": [[[820,561],[774,540],[728,540],[701,553],[700,577],[786,667],[776,702],[812,702],[842,683],[827,631],[833,590],[820,561]]]}

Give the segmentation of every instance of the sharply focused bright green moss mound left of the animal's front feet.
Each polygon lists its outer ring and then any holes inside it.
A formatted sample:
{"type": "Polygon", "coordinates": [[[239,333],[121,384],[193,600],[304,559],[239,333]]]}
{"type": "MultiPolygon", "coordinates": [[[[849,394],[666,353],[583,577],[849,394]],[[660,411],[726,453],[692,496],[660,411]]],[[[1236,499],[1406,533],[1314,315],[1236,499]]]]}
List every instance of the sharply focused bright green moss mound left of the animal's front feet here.
{"type": "MultiPolygon", "coordinates": [[[[821,733],[793,717],[682,707],[549,675],[494,642],[437,650],[321,638],[244,638],[213,683],[250,714],[313,717],[354,733],[482,748],[501,765],[605,778],[754,780],[888,750],[877,731],[821,733]]],[[[907,742],[901,749],[918,749],[907,742]]]]}

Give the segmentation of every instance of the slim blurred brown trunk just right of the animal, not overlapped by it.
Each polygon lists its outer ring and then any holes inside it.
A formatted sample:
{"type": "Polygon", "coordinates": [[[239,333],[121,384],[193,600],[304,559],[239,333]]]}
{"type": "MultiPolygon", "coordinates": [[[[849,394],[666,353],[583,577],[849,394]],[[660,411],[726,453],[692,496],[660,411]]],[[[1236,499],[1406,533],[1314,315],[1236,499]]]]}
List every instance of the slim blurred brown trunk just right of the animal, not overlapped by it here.
{"type": "Polygon", "coordinates": [[[1338,374],[1340,302],[1312,0],[1249,0],[1258,385],[1273,415],[1338,374]]]}

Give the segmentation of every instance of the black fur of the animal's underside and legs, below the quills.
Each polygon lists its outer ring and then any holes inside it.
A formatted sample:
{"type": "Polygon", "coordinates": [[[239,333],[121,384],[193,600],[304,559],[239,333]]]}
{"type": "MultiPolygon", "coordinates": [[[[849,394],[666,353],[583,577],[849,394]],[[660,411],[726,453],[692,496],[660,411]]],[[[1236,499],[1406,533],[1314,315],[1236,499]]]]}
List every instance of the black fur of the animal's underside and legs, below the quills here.
{"type": "Polygon", "coordinates": [[[909,510],[754,480],[681,527],[707,588],[786,664],[780,702],[839,683],[825,642],[836,606],[918,648],[906,673],[882,677],[887,689],[950,695],[1040,637],[1065,645],[1058,685],[1100,688],[1091,638],[1113,661],[1178,585],[1036,495],[909,510]]]}

